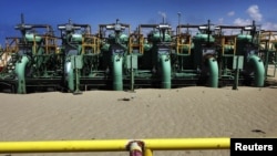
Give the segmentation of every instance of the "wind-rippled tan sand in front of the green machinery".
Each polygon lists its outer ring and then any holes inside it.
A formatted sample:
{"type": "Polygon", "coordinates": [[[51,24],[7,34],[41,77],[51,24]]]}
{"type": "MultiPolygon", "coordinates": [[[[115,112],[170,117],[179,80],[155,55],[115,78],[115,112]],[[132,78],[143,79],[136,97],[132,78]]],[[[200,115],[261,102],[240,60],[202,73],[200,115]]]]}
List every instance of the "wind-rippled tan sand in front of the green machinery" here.
{"type": "MultiPolygon", "coordinates": [[[[238,90],[196,86],[142,89],[135,93],[90,91],[81,95],[0,94],[0,141],[277,137],[276,80],[267,87],[239,86],[238,90]]],[[[165,155],[228,156],[229,150],[154,152],[154,156],[165,155]]]]}

